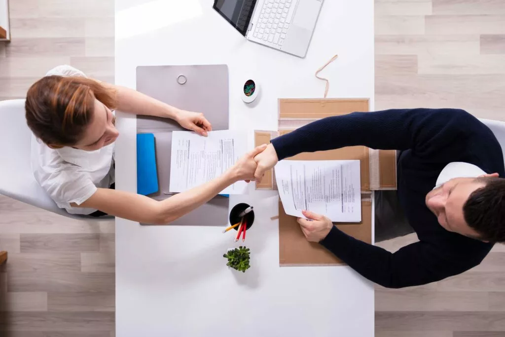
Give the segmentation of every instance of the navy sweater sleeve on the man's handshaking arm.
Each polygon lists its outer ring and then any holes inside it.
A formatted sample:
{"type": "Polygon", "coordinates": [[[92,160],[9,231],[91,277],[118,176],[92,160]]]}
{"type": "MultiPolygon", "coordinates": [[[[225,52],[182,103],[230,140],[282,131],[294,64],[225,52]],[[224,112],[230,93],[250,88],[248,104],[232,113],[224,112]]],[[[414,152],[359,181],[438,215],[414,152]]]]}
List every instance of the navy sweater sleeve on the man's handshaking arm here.
{"type": "Polygon", "coordinates": [[[363,145],[412,149],[428,156],[468,132],[478,120],[458,109],[394,109],[327,117],[272,140],[279,160],[302,152],[363,145]],[[469,122],[472,120],[472,122],[469,122]]]}

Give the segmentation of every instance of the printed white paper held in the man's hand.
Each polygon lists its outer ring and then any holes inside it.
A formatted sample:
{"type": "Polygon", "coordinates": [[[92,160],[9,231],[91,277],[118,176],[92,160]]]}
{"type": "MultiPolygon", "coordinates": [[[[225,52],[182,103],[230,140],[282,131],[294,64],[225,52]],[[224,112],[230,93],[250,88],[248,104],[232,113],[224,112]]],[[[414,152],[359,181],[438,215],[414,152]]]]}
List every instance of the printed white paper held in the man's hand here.
{"type": "Polygon", "coordinates": [[[305,218],[308,210],[333,222],[361,221],[359,160],[281,160],[275,179],[288,215],[305,218]]]}

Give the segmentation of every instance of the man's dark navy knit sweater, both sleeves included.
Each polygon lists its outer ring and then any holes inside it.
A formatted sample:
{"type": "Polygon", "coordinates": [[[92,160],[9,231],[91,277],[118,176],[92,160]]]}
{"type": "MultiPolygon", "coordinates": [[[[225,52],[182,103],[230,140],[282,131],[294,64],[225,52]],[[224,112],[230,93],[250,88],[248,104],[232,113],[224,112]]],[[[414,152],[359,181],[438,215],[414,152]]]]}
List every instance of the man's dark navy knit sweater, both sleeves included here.
{"type": "Polygon", "coordinates": [[[363,145],[402,150],[398,198],[419,242],[396,253],[366,244],[335,226],[321,244],[369,280],[399,288],[462,273],[492,244],[445,230],[426,207],[426,194],[450,162],[477,165],[505,176],[500,145],[478,119],[456,109],[385,110],[328,117],[272,140],[279,160],[302,152],[363,145]]]}

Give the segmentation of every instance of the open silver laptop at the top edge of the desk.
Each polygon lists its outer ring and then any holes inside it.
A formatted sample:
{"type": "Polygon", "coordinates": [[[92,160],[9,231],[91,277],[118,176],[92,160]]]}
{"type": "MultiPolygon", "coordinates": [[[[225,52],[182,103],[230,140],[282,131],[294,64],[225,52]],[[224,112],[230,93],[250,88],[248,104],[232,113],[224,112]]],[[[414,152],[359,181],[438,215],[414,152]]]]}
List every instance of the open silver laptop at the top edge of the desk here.
{"type": "Polygon", "coordinates": [[[305,57],[323,0],[214,0],[214,9],[248,40],[305,57]]]}

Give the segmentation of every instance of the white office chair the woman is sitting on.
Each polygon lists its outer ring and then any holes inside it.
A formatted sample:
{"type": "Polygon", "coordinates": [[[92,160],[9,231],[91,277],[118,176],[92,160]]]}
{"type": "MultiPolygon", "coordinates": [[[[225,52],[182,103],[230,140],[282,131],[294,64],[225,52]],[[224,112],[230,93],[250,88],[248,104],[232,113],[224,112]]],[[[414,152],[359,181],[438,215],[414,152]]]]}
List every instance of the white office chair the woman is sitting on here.
{"type": "Polygon", "coordinates": [[[99,220],[60,209],[35,181],[30,163],[31,134],[25,100],[0,101],[0,195],[69,218],[99,220]]]}

